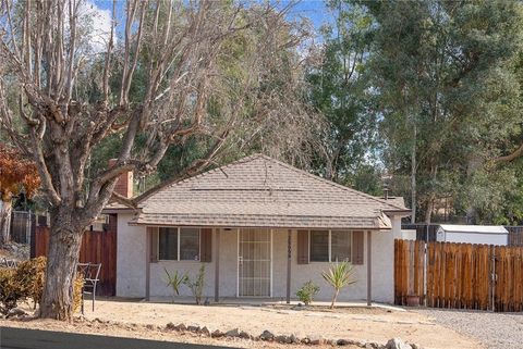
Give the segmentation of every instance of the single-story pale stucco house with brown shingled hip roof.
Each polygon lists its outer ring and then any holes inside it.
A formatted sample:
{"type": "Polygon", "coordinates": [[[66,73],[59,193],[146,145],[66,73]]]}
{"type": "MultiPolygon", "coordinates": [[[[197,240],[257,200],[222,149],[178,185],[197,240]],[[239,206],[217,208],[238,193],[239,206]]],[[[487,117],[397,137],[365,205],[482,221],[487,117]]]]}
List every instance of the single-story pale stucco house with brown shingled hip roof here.
{"type": "MultiPolygon", "coordinates": [[[[118,190],[129,192],[130,183],[124,175],[118,190]]],[[[203,262],[204,294],[216,301],[289,301],[309,279],[320,286],[316,299],[327,300],[321,271],[348,260],[357,283],[339,300],[393,301],[393,240],[410,213],[402,201],[255,154],[161,187],[138,207],[105,210],[118,216],[117,296],[171,296],[165,269],[195,275],[203,262]]]]}

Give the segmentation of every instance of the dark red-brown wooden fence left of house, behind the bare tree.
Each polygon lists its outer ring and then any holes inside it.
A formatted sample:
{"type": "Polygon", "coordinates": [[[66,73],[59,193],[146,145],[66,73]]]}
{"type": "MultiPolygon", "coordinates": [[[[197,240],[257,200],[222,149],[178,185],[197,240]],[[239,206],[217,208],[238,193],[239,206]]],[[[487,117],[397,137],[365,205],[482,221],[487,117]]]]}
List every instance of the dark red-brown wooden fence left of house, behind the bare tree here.
{"type": "MultiPolygon", "coordinates": [[[[37,226],[32,257],[47,255],[49,227],[37,226]]],[[[97,285],[98,296],[114,296],[117,291],[117,219],[109,216],[107,230],[86,230],[82,236],[80,263],[101,263],[97,285]]]]}

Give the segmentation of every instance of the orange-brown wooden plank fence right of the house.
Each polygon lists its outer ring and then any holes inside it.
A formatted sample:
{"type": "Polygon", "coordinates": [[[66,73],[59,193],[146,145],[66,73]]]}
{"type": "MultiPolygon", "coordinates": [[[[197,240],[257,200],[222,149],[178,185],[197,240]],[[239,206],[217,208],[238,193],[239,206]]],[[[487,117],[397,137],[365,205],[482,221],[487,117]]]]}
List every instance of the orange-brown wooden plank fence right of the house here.
{"type": "Polygon", "coordinates": [[[394,301],[523,311],[523,247],[396,240],[394,301]]]}

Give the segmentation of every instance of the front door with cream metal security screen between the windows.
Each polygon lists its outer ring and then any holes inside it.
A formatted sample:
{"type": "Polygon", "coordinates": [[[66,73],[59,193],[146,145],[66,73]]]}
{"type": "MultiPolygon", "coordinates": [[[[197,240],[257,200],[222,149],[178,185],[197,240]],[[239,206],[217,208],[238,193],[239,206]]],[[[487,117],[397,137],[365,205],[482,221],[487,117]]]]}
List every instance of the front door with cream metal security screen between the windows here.
{"type": "Polygon", "coordinates": [[[271,296],[271,257],[270,229],[239,229],[238,295],[240,297],[271,296]]]}

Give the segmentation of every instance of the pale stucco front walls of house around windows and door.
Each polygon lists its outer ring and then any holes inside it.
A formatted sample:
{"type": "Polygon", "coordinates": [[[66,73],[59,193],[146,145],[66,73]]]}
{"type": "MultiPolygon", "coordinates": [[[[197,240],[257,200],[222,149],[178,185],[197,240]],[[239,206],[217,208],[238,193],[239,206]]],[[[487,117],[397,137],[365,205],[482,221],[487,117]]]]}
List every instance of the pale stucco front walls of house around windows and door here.
{"type": "MultiPolygon", "coordinates": [[[[118,215],[118,257],[117,257],[117,296],[145,297],[146,289],[146,227],[129,225],[131,213],[118,215]]],[[[393,259],[394,237],[401,236],[399,216],[392,216],[391,230],[372,230],[372,299],[379,302],[393,302],[393,259]]],[[[216,238],[212,234],[212,258],[206,264],[205,297],[215,295],[216,238]]],[[[338,299],[340,301],[365,300],[367,296],[367,232],[364,239],[364,263],[355,265],[357,283],[344,288],[338,299]]],[[[238,230],[220,229],[219,252],[219,295],[236,297],[238,292],[238,230]]],[[[287,240],[288,229],[272,229],[272,297],[284,299],[287,295],[287,240]]],[[[332,289],[321,277],[321,272],[329,267],[327,262],[297,264],[297,232],[291,230],[291,297],[307,281],[320,287],[317,300],[330,300],[332,289]]],[[[150,263],[150,297],[170,297],[172,291],[166,286],[168,271],[186,272],[193,277],[200,263],[192,261],[158,261],[150,263]]],[[[182,296],[190,296],[186,287],[182,296]]]]}

